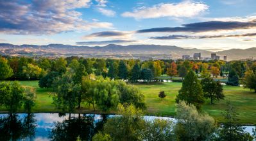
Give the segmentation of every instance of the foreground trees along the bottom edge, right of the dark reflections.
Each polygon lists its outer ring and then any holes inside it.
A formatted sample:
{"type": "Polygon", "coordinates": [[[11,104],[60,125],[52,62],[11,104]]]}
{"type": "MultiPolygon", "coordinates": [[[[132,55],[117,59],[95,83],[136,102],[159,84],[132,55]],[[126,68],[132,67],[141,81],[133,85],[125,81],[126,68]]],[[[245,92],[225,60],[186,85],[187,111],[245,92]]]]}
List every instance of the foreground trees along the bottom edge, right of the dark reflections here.
{"type": "Polygon", "coordinates": [[[234,109],[228,104],[223,113],[227,123],[219,126],[212,117],[184,101],[176,105],[176,122],[146,120],[134,106],[119,106],[121,116],[108,119],[92,140],[253,140],[243,127],[234,124],[236,113],[230,108],[234,109]]]}

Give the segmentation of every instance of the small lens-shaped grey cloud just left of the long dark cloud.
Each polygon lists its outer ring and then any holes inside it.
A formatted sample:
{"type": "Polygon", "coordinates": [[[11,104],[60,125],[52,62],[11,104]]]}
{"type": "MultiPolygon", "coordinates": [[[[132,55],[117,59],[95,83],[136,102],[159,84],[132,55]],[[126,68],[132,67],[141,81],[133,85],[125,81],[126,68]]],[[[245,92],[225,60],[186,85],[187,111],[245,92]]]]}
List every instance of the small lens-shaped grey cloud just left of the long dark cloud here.
{"type": "Polygon", "coordinates": [[[83,38],[95,38],[95,37],[124,37],[129,35],[124,31],[102,31],[97,33],[92,33],[90,35],[85,35],[83,38]]]}

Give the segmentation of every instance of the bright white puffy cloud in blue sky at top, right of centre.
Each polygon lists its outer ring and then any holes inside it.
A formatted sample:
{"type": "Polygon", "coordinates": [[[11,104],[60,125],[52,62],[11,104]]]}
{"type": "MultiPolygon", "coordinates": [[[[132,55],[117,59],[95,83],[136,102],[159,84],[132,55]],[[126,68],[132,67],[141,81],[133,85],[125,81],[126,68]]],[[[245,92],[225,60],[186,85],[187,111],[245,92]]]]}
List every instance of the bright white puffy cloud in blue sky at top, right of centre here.
{"type": "Polygon", "coordinates": [[[135,19],[150,19],[158,17],[194,17],[205,12],[209,6],[203,3],[192,3],[184,1],[182,3],[161,3],[152,7],[141,7],[133,12],[124,12],[123,17],[133,17],[135,19]]]}

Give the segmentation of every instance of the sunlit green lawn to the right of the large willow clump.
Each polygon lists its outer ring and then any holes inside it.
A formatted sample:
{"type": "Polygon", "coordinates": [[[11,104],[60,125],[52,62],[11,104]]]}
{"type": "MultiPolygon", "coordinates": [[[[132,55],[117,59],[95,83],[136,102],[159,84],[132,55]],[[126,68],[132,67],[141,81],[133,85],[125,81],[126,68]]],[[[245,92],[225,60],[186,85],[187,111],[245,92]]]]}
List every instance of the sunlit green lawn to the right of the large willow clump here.
{"type": "MultiPolygon", "coordinates": [[[[148,114],[169,116],[175,115],[175,97],[182,83],[162,83],[137,85],[146,97],[148,114]],[[164,90],[166,98],[161,100],[158,93],[164,90]]],[[[256,124],[256,94],[243,87],[224,86],[225,99],[210,104],[207,100],[203,105],[203,112],[209,113],[218,122],[225,122],[221,113],[226,108],[226,101],[230,101],[239,113],[239,124],[256,124]]]]}

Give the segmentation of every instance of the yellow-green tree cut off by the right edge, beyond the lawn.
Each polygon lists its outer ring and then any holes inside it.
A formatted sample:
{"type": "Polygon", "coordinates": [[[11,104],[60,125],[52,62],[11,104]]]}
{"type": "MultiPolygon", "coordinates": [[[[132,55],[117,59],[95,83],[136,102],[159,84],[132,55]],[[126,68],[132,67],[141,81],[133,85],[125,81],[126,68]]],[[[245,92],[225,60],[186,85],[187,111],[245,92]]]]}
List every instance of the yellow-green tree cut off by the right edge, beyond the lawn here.
{"type": "Polygon", "coordinates": [[[244,88],[250,88],[251,90],[254,90],[254,92],[256,93],[256,71],[253,72],[253,70],[247,70],[244,74],[244,88]]]}

